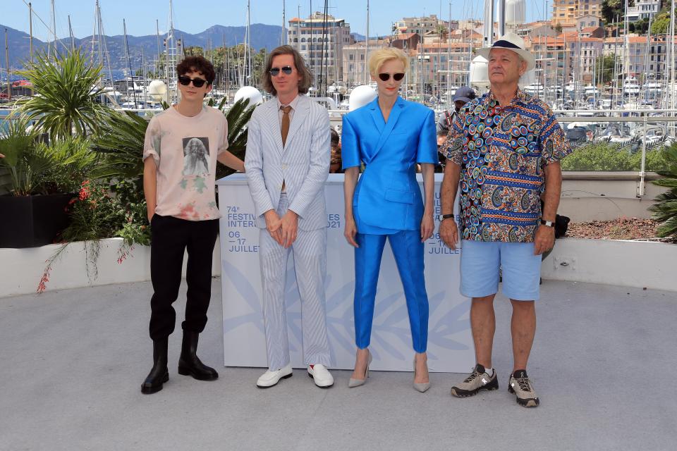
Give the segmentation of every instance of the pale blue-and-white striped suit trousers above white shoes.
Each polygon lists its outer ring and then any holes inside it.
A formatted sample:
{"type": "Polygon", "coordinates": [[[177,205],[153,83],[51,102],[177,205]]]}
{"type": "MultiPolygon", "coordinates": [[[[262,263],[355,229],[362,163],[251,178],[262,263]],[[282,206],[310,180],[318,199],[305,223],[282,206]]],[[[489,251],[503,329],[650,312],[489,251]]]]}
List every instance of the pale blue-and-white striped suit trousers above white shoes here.
{"type": "MultiPolygon", "coordinates": [[[[281,194],[276,209],[282,217],[289,206],[281,194]]],[[[298,230],[293,245],[285,249],[261,229],[259,240],[263,282],[263,322],[266,332],[268,366],[276,371],[290,362],[284,306],[285,279],[289,252],[293,252],[296,283],[301,299],[303,361],[306,365],[331,366],[324,298],[327,276],[327,228],[298,230]]]]}

